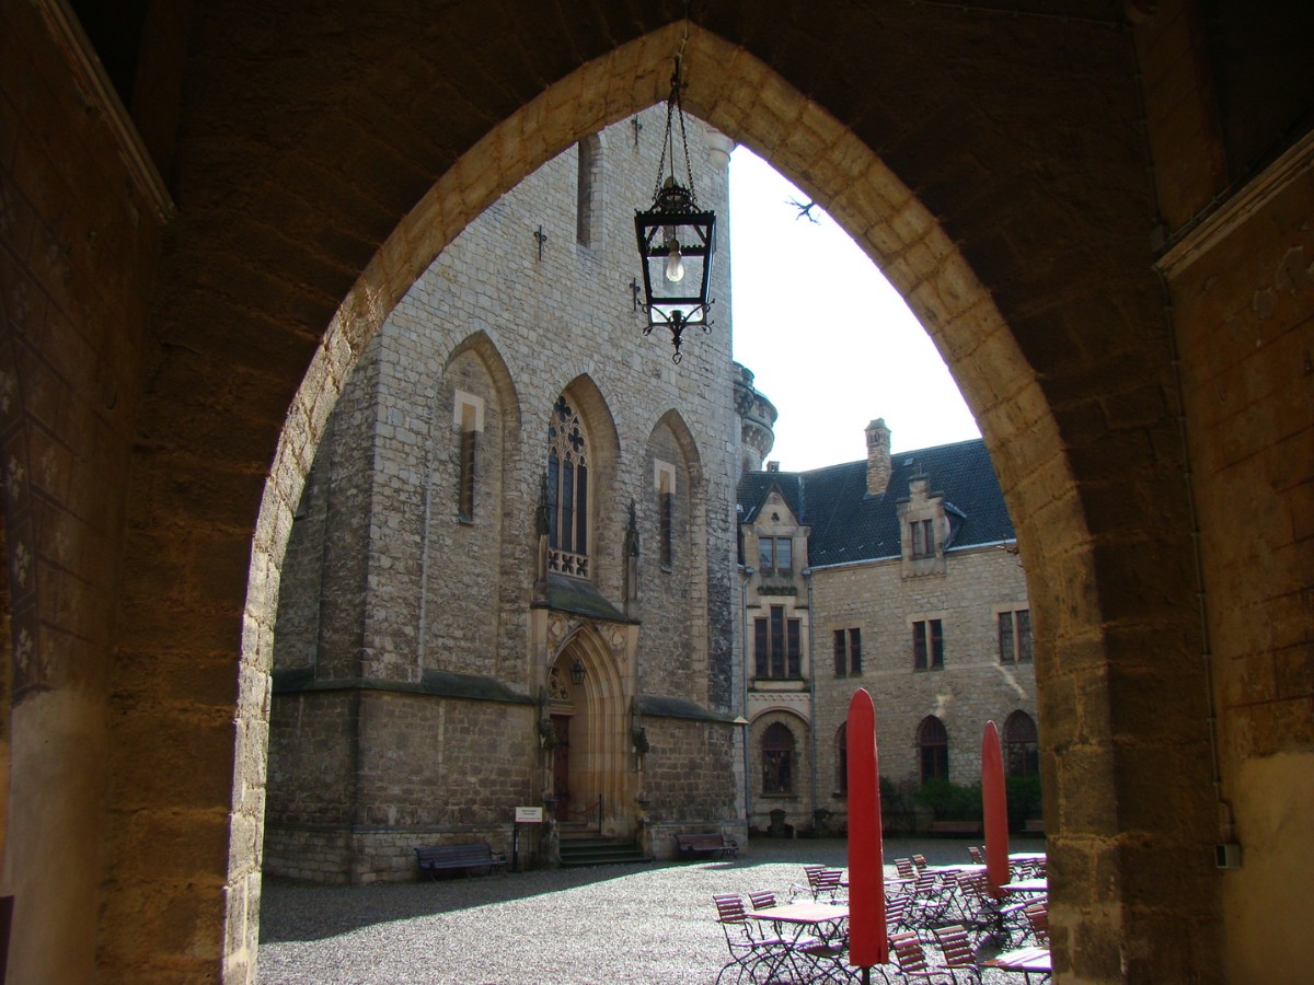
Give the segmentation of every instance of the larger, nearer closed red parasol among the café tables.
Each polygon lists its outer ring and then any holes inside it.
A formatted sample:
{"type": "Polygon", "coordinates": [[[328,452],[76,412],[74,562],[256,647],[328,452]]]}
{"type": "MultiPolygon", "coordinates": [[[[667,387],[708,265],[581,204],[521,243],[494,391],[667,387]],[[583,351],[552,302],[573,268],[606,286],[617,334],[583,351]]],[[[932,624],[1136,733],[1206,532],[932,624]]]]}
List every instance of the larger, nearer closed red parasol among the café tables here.
{"type": "Polygon", "coordinates": [[[858,688],[849,701],[849,964],[870,968],[890,961],[886,930],[886,873],[880,843],[880,770],[876,709],[858,688]]]}

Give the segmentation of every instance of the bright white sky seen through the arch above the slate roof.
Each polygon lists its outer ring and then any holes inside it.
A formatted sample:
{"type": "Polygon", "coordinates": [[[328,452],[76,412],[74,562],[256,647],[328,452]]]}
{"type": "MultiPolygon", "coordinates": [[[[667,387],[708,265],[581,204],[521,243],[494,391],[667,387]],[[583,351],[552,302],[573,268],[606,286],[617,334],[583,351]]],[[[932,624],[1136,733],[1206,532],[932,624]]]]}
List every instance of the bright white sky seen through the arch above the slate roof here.
{"type": "Polygon", "coordinates": [[[770,458],[803,471],[866,458],[884,418],[896,452],[979,437],[943,360],[875,264],[745,147],[731,155],[735,359],[775,405],[770,458]],[[804,294],[807,292],[807,294],[804,294]]]}

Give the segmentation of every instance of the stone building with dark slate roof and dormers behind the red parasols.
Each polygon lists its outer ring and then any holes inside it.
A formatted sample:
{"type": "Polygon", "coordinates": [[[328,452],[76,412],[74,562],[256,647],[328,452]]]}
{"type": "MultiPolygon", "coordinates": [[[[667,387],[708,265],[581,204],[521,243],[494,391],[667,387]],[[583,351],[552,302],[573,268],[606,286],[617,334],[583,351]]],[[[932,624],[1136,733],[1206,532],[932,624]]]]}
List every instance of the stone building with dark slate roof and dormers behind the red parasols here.
{"type": "MultiPolygon", "coordinates": [[[[765,454],[774,414],[754,418],[752,447],[765,454]]],[[[984,443],[891,454],[878,419],[866,444],[863,461],[808,471],[745,460],[750,830],[846,829],[858,687],[875,703],[880,775],[904,789],[978,781],[987,720],[1009,775],[1038,768],[1026,577],[984,443]]]]}

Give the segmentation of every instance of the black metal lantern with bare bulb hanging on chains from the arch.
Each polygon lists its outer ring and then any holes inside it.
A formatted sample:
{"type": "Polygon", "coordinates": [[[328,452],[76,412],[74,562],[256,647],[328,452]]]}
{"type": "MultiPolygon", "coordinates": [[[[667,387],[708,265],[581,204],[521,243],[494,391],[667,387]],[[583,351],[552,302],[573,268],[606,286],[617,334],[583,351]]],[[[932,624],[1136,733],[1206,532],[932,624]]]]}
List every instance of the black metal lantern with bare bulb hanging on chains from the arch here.
{"type": "Polygon", "coordinates": [[[645,211],[635,211],[639,256],[644,267],[643,309],[648,315],[644,335],[652,334],[657,327],[669,330],[675,347],[675,362],[679,362],[679,345],[686,328],[696,326],[704,332],[712,328],[708,318],[712,302],[707,299],[707,293],[712,284],[712,256],[716,250],[716,213],[699,209],[694,192],[694,169],[689,160],[689,137],[685,133],[685,109],[679,91],[677,58],[670,97],[666,100],[666,135],[661,162],[657,164],[653,204],[645,211]],[[675,177],[677,118],[687,186],[675,177]]]}

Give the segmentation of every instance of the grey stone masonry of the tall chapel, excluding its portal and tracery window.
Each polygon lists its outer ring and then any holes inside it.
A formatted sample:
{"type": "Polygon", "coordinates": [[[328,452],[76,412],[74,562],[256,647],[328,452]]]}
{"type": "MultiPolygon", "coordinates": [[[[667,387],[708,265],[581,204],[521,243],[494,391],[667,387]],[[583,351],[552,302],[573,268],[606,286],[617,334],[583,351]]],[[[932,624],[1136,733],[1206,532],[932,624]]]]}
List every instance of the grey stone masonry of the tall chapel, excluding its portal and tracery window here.
{"type": "MultiPolygon", "coordinates": [[[[340,793],[350,810],[336,820],[352,825],[342,869],[352,880],[403,875],[415,838],[434,830],[493,831],[494,847],[509,850],[512,808],[540,802],[530,704],[448,700],[431,684],[434,674],[472,675],[533,701],[545,683],[544,661],[556,654],[532,636],[530,603],[548,420],[561,394],[589,436],[591,582],[620,611],[635,504],[641,692],[728,707],[729,483],[738,457],[728,261],[723,255],[714,281],[716,327],[686,339],[674,365],[668,339],[643,336],[625,281],[665,108],[636,121],[639,130],[624,122],[590,138],[583,172],[576,146],[490,206],[417,280],[347,382],[285,561],[268,799],[268,830],[281,844],[271,842],[271,872],[311,871],[292,858],[288,833],[323,823],[309,801],[339,802],[328,788],[343,779],[309,775],[314,754],[298,746],[317,730],[336,737],[346,728],[355,743],[355,774],[340,793]],[[468,429],[476,468],[464,516],[468,429]],[[669,563],[662,481],[674,486],[669,563]],[[357,696],[343,705],[300,693],[331,682],[357,696]],[[357,692],[365,682],[384,692],[357,692]],[[300,724],[315,714],[332,724],[300,724]]],[[[724,162],[712,162],[703,126],[690,121],[689,133],[695,188],[716,208],[724,162]]],[[[717,728],[735,741],[733,729],[717,728]]],[[[733,821],[731,756],[708,742],[694,742],[703,758],[674,743],[649,755],[648,796],[664,818],[733,821]]]]}

